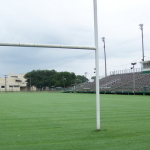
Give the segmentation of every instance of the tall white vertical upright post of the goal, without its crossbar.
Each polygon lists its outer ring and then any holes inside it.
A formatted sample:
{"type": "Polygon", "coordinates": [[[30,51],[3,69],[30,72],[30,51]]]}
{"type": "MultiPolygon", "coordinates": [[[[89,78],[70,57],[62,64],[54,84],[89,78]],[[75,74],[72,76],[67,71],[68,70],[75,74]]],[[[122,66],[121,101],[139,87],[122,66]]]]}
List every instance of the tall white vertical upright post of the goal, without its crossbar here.
{"type": "Polygon", "coordinates": [[[99,47],[98,47],[98,21],[97,21],[97,0],[94,5],[94,32],[95,32],[95,66],[96,66],[96,129],[100,130],[100,93],[99,93],[99,47]]]}

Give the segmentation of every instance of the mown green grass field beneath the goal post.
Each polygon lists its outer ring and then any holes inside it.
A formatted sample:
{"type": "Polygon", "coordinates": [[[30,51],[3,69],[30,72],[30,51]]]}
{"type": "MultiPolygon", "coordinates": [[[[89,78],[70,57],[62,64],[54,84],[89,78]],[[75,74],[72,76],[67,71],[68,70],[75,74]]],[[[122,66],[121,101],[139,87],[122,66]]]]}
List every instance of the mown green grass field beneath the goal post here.
{"type": "Polygon", "coordinates": [[[150,97],[95,94],[1,93],[0,150],[148,150],[150,97]]]}

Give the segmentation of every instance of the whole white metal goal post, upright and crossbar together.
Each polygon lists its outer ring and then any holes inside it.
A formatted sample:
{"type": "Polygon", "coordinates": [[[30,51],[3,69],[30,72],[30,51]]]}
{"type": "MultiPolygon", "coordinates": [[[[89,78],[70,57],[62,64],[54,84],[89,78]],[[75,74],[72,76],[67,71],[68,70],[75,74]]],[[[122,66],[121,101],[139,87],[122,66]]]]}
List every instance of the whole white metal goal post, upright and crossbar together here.
{"type": "Polygon", "coordinates": [[[97,0],[93,0],[94,7],[94,37],[95,46],[66,46],[50,44],[20,44],[20,43],[0,43],[0,46],[15,47],[41,47],[41,48],[65,48],[65,49],[85,49],[95,51],[95,72],[96,72],[96,129],[100,130],[100,91],[99,91],[99,46],[98,46],[98,20],[97,20],[97,0]]]}

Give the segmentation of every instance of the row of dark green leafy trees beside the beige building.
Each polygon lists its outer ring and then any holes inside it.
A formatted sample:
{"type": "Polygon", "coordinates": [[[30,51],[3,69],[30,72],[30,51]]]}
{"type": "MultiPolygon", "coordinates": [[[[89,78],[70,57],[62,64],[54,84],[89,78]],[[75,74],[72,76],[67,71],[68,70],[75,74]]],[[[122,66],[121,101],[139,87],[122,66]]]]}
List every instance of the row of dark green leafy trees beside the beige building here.
{"type": "Polygon", "coordinates": [[[28,86],[37,88],[45,87],[69,87],[75,84],[87,82],[83,75],[75,75],[73,72],[57,72],[55,70],[33,70],[25,74],[28,86]]]}

